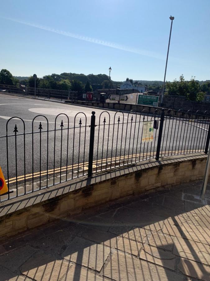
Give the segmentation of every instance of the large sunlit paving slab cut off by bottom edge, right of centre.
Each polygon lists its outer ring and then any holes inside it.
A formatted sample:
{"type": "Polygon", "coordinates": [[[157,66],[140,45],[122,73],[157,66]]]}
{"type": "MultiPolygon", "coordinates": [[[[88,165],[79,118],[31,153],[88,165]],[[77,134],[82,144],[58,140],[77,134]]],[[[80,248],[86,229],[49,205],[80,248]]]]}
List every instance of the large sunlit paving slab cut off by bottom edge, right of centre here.
{"type": "Polygon", "coordinates": [[[175,272],[119,251],[111,257],[104,276],[120,281],[183,281],[183,277],[175,272]]]}

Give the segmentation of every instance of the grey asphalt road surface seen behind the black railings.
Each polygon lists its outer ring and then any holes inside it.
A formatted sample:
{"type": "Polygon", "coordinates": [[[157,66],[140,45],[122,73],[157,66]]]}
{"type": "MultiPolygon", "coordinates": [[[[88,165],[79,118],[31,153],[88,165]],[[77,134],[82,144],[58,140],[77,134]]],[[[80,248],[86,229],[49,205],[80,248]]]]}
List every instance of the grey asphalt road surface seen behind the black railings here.
{"type": "MultiPolygon", "coordinates": [[[[102,113],[104,111],[102,109],[93,109],[89,107],[75,106],[51,101],[34,100],[24,97],[9,96],[5,94],[0,94],[0,136],[6,135],[6,123],[9,118],[14,116],[21,117],[25,123],[26,133],[26,174],[31,174],[32,166],[34,168],[34,173],[37,174],[39,173],[39,171],[47,170],[47,167],[49,170],[53,170],[55,167],[55,169],[57,169],[56,171],[60,172],[60,166],[69,166],[68,173],[72,172],[72,176],[77,176],[81,173],[85,173],[87,169],[87,165],[83,165],[83,163],[86,163],[88,161],[90,141],[89,125],[91,123],[92,111],[96,112],[95,116],[97,125],[95,127],[93,157],[93,160],[95,160],[95,170],[100,170],[101,168],[109,167],[110,165],[122,165],[123,163],[126,164],[130,163],[131,161],[135,162],[139,159],[142,160],[154,157],[156,152],[156,146],[154,148],[154,145],[157,143],[159,130],[154,130],[154,140],[152,142],[141,143],[143,124],[142,121],[144,118],[143,115],[137,115],[136,117],[135,114],[133,114],[133,121],[131,123],[132,114],[128,116],[128,113],[124,113],[124,124],[122,124],[123,114],[116,114],[116,111],[109,110],[108,113],[102,113]],[[75,118],[75,115],[78,112],[81,113],[79,113],[75,118]],[[58,129],[58,131],[56,131],[55,136],[55,117],[60,113],[65,113],[68,116],[69,129],[67,116],[58,116],[56,121],[56,129],[58,129]],[[48,123],[46,118],[37,115],[44,115],[47,118],[48,123]],[[37,117],[35,118],[35,116],[37,117]],[[32,120],[34,118],[35,121],[32,127],[32,120]],[[82,123],[81,128],[79,126],[80,118],[82,123]],[[105,123],[103,122],[104,118],[106,121],[105,123]],[[120,119],[119,126],[118,118],[120,119]],[[134,122],[135,118],[137,118],[136,123],[134,122]],[[61,134],[60,126],[62,120],[63,127],[61,134]],[[128,124],[127,120],[129,122],[128,124]],[[39,130],[40,122],[42,127],[41,147],[39,130]],[[113,125],[114,122],[115,125],[113,125]],[[98,126],[99,124],[100,126],[98,126]],[[46,132],[47,126],[49,129],[48,138],[46,132]],[[28,134],[31,133],[32,130],[36,132],[35,134],[33,134],[33,164],[32,134],[28,134]],[[123,155],[131,156],[124,158],[123,155]],[[106,158],[108,158],[109,160],[100,162],[101,159],[106,158]],[[77,163],[82,163],[82,165],[77,166],[77,163]]],[[[147,120],[147,118],[148,120],[151,120],[151,116],[147,117],[146,115],[145,121],[147,120]]],[[[9,179],[16,177],[16,171],[17,176],[24,175],[24,136],[16,136],[15,147],[15,136],[13,132],[15,129],[15,125],[17,126],[18,130],[17,134],[22,134],[24,132],[23,122],[20,119],[13,119],[9,121],[7,129],[9,179]],[[17,151],[17,153],[15,153],[15,151],[17,151]]],[[[162,139],[163,141],[161,146],[163,155],[176,154],[174,151],[182,151],[182,153],[186,153],[187,151],[192,151],[195,148],[197,150],[203,150],[207,134],[207,127],[208,124],[203,124],[203,122],[186,122],[182,120],[179,121],[179,119],[173,121],[166,120],[164,122],[162,139]]],[[[7,178],[6,137],[0,138],[0,151],[0,165],[2,167],[5,178],[7,178]]],[[[62,172],[65,172],[64,168],[62,169],[62,172]]],[[[29,179],[30,177],[31,176],[28,176],[29,179]]],[[[16,179],[12,181],[15,182],[16,179]]]]}

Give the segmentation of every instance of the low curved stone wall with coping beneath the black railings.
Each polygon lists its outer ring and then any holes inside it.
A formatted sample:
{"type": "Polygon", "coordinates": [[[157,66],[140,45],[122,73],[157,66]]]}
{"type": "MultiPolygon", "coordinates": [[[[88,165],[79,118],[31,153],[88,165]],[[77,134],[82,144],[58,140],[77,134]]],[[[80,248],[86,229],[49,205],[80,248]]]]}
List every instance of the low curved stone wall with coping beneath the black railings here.
{"type": "Polygon", "coordinates": [[[5,201],[0,203],[0,239],[111,200],[202,179],[206,158],[207,155],[197,153],[147,160],[5,201]]]}

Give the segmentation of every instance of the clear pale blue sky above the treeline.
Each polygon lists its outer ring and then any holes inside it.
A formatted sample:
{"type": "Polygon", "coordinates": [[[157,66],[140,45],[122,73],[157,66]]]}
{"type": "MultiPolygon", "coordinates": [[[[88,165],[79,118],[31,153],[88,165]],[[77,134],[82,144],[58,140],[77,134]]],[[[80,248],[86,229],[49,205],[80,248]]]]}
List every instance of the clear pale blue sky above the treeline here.
{"type": "Polygon", "coordinates": [[[0,69],[14,76],[210,79],[210,0],[1,0],[0,69]]]}

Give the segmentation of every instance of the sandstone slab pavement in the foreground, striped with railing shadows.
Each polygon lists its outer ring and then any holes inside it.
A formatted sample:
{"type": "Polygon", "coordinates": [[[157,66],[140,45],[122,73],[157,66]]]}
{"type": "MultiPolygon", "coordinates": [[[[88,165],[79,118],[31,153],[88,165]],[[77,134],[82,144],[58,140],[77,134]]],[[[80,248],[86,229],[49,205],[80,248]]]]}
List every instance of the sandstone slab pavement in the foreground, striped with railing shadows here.
{"type": "Polygon", "coordinates": [[[0,242],[0,281],[210,280],[210,185],[128,197],[0,242]]]}

